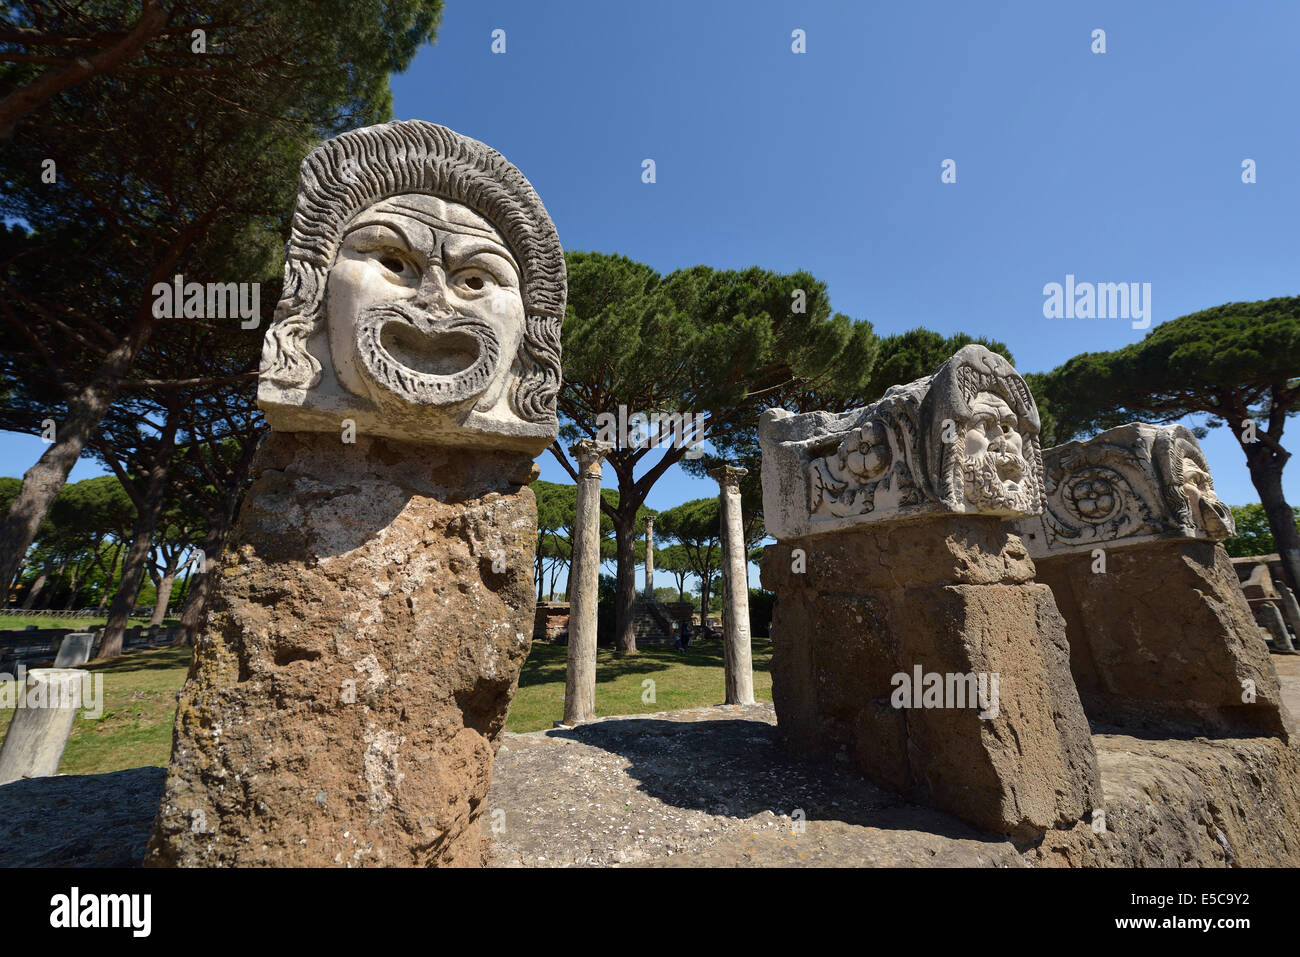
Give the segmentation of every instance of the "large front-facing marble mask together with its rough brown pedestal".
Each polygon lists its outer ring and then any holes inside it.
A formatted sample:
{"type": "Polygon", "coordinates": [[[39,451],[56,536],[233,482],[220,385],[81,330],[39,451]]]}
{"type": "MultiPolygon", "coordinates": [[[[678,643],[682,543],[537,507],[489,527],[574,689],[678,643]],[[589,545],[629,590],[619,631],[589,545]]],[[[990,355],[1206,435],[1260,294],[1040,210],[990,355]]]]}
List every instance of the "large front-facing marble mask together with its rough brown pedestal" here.
{"type": "Polygon", "coordinates": [[[152,866],[481,865],[536,594],[564,257],[433,124],[302,165],[257,451],[181,692],[152,866]]]}

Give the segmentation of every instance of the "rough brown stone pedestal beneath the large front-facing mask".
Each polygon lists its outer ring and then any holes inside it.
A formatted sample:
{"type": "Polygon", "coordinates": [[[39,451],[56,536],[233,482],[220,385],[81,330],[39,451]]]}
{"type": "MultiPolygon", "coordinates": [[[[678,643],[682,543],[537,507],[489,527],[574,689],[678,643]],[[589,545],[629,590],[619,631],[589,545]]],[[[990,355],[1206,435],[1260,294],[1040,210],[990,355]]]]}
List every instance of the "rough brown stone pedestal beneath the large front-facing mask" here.
{"type": "Polygon", "coordinates": [[[147,863],[480,865],[533,631],[532,462],[272,433],[254,475],[147,863]]]}

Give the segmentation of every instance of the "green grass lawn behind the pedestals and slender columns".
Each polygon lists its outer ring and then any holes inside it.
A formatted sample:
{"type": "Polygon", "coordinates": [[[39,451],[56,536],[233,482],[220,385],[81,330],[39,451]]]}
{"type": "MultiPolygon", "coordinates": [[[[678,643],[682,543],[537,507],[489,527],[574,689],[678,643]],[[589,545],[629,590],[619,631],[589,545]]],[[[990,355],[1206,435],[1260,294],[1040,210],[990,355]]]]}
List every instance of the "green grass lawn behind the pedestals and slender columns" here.
{"type": "MultiPolygon", "coordinates": [[[[754,697],[772,700],[772,646],[754,638],[754,697]]],[[[564,716],[564,645],[533,642],[524,663],[519,693],[510,707],[510,731],[541,731],[564,716]]],[[[176,693],[190,668],[188,648],[134,651],[110,662],[86,666],[104,676],[104,715],[77,716],[61,774],[104,774],[129,767],[165,767],[172,754],[176,693]]],[[[714,641],[679,654],[650,648],[620,658],[602,648],[595,666],[595,713],[649,714],[681,707],[720,705],[723,649],[714,641]],[[646,679],[654,681],[654,701],[642,701],[646,679]]],[[[12,709],[0,709],[0,736],[9,728],[12,709]]]]}

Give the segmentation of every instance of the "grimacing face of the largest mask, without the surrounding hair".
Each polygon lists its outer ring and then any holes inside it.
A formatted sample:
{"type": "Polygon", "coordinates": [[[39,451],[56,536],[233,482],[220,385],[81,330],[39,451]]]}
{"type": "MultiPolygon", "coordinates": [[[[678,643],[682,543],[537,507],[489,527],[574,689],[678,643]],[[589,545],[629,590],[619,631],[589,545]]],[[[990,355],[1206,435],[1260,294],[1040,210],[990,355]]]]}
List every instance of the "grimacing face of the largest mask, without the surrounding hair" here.
{"type": "Polygon", "coordinates": [[[478,213],[425,194],[377,203],[344,231],[326,286],[339,384],[381,408],[488,411],[524,334],[520,269],[478,213]]]}

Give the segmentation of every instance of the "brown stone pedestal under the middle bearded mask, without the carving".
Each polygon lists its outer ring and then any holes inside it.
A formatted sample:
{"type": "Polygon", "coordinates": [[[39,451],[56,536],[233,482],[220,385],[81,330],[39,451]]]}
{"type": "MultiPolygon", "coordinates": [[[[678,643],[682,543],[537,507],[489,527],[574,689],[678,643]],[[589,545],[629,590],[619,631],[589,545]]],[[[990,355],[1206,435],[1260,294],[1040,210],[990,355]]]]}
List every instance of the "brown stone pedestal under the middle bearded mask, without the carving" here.
{"type": "Polygon", "coordinates": [[[993,516],[770,546],[781,735],[991,831],[1031,837],[1084,819],[1100,802],[1096,754],[1065,623],[1032,577],[993,516]],[[930,675],[940,693],[926,694],[930,675]]]}

